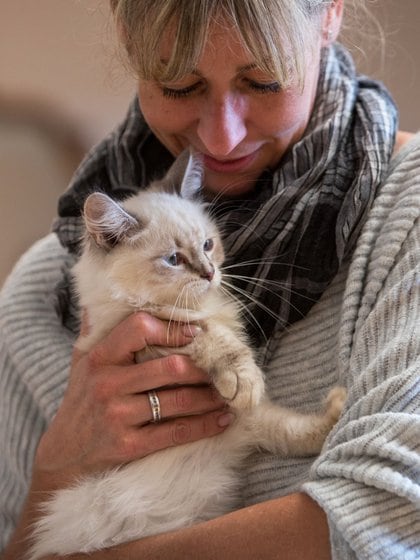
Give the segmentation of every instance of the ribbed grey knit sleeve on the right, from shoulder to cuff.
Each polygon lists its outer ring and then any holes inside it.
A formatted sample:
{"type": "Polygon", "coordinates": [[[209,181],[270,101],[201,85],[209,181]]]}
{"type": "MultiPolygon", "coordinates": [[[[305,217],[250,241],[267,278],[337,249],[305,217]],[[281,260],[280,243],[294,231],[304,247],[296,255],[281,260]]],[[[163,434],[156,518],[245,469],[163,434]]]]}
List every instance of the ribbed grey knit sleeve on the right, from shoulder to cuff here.
{"type": "Polygon", "coordinates": [[[334,560],[420,558],[420,143],[395,161],[349,272],[339,341],[344,415],[305,490],[334,560]]]}

